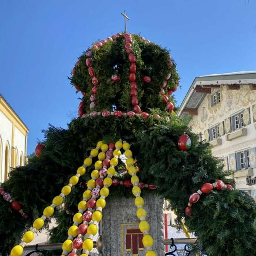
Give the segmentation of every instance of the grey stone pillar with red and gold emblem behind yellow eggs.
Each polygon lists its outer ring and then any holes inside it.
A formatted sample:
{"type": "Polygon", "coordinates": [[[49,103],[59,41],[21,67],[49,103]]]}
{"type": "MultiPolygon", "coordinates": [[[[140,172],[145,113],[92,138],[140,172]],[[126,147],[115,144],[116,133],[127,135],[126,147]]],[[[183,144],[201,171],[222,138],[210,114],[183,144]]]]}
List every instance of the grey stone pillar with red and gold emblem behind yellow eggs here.
{"type": "MultiPolygon", "coordinates": [[[[163,199],[155,195],[143,196],[150,234],[154,238],[154,251],[158,256],[164,252],[163,199]]],[[[139,230],[139,219],[134,197],[106,200],[102,211],[102,256],[144,256],[143,234],[139,230]]]]}

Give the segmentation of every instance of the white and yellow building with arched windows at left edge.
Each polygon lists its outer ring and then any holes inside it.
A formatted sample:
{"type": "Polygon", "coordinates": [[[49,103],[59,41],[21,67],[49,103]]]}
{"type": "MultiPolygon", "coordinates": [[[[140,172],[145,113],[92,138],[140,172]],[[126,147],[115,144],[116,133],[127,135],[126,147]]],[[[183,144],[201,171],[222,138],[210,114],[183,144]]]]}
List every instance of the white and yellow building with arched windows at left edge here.
{"type": "Polygon", "coordinates": [[[0,94],[0,182],[26,162],[28,128],[0,94]]]}

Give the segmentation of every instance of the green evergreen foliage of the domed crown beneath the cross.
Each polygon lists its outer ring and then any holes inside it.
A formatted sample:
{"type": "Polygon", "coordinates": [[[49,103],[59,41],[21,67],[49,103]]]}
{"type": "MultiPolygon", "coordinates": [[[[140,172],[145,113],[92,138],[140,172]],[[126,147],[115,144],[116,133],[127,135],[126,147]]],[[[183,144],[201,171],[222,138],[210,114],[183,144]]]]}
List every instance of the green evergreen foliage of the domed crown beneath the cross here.
{"type": "MultiPolygon", "coordinates": [[[[176,71],[176,64],[173,61],[173,67],[169,66],[169,52],[159,45],[149,44],[136,34],[132,35],[132,40],[132,50],[136,55],[136,83],[139,106],[143,111],[148,111],[151,108],[165,110],[166,105],[162,102],[162,96],[159,91],[166,80],[167,74],[170,72],[172,76],[165,88],[166,95],[168,95],[167,90],[177,86],[179,76],[176,71]],[[144,75],[151,77],[151,83],[143,83],[142,77],[144,75]]],[[[125,112],[133,110],[129,95],[130,62],[124,46],[125,40],[122,35],[113,42],[106,42],[102,48],[92,49],[92,67],[99,80],[95,101],[96,111],[111,110],[113,105],[116,105],[118,110],[125,112]],[[119,82],[111,81],[113,74],[120,76],[119,82]]],[[[71,83],[85,92],[83,97],[83,101],[86,103],[84,109],[89,113],[93,84],[91,83],[91,76],[88,74],[86,58],[86,52],[79,57],[79,65],[76,67],[71,83]]],[[[173,101],[172,98],[170,100],[173,101]]]]}

